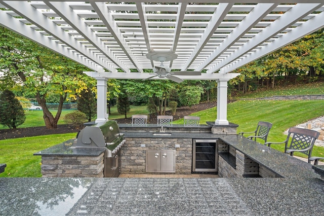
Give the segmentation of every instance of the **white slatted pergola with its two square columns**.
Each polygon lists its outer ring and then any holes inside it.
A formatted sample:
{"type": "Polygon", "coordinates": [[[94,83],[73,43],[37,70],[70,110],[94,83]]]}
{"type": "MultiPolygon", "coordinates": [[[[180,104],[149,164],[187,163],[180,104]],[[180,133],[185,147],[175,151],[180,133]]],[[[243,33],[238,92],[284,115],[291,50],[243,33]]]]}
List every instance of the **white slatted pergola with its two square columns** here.
{"type": "Polygon", "coordinates": [[[96,122],[107,118],[107,79],[151,77],[143,69],[159,65],[146,57],[154,51],[176,53],[164,62],[172,69],[207,71],[184,80],[217,81],[219,125],[228,124],[227,82],[239,75],[231,71],[324,26],[323,0],[164,2],[0,0],[0,25],[92,70],[96,122]]]}

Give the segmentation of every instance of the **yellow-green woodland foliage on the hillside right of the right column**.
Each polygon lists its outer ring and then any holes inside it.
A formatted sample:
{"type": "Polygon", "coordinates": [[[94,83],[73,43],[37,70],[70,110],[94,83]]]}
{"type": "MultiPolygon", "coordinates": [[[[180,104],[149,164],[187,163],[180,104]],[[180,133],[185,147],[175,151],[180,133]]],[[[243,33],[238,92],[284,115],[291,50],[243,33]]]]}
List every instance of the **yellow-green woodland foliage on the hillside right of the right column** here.
{"type": "Polygon", "coordinates": [[[274,88],[276,85],[315,82],[324,74],[323,49],[324,33],[320,29],[236,69],[233,72],[241,75],[230,83],[238,85],[238,90],[242,87],[242,92],[246,93],[263,85],[274,88]],[[240,83],[243,85],[240,86],[240,83]]]}

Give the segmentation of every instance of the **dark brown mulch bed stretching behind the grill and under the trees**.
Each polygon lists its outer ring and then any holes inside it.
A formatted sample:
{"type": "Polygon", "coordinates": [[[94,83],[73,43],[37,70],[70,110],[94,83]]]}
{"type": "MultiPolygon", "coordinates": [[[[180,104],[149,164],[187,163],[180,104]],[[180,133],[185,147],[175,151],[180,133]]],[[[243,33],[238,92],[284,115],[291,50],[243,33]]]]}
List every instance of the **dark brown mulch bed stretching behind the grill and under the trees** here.
{"type": "MultiPolygon", "coordinates": [[[[186,115],[195,113],[202,110],[210,109],[216,106],[216,101],[199,103],[191,107],[184,106],[178,107],[176,114],[173,116],[174,121],[182,119],[186,115]]],[[[166,115],[172,115],[170,111],[166,112],[166,115]]],[[[132,118],[127,119],[115,119],[118,124],[131,124],[132,118]]],[[[156,124],[156,116],[150,117],[148,119],[149,124],[156,124]]],[[[49,134],[62,134],[62,133],[77,133],[80,129],[76,129],[71,125],[58,125],[56,129],[47,129],[43,127],[28,127],[28,128],[18,128],[14,129],[2,129],[0,130],[0,140],[10,139],[10,138],[21,138],[21,137],[30,137],[30,136],[40,136],[40,135],[49,135],[49,134]]]]}

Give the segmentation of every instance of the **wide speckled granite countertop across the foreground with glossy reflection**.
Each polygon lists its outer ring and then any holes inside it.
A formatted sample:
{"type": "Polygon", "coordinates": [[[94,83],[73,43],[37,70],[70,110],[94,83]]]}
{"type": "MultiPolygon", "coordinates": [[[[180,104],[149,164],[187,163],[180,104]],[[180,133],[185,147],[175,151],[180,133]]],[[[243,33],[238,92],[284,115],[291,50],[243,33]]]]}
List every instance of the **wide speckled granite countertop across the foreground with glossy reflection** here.
{"type": "Polygon", "coordinates": [[[319,178],[0,178],[0,215],[322,215],[319,178]]]}

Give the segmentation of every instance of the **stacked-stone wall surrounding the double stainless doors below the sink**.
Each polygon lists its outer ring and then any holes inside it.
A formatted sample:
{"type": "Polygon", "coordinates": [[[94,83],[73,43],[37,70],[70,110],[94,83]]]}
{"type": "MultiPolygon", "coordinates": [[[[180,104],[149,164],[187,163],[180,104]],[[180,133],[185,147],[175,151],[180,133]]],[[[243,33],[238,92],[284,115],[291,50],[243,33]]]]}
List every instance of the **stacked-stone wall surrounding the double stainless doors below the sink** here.
{"type": "MultiPolygon", "coordinates": [[[[190,174],[192,166],[191,138],[126,137],[120,150],[121,173],[146,173],[146,150],[176,150],[176,174],[190,174]],[[180,145],[176,148],[175,145],[180,145]]],[[[155,172],[155,174],[161,174],[155,172]]],[[[163,173],[165,174],[165,173],[163,173]]]]}

